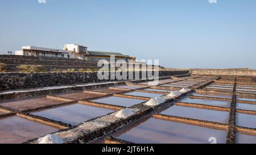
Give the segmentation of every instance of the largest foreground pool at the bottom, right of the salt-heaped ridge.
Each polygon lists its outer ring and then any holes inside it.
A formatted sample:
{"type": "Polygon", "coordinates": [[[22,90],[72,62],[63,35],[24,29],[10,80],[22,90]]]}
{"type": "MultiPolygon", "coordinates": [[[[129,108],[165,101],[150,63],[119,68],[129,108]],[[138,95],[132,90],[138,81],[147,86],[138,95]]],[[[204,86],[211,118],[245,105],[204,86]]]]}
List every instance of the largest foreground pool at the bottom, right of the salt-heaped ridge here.
{"type": "Polygon", "coordinates": [[[226,132],[152,118],[114,137],[137,144],[209,144],[210,137],[225,143],[226,132]]]}

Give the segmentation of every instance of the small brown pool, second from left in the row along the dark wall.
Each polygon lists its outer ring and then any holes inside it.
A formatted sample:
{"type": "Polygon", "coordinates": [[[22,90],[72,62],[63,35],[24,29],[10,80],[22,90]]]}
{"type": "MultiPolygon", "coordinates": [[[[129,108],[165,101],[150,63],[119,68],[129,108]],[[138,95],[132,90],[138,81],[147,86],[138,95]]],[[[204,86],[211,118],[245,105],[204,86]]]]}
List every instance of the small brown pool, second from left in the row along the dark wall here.
{"type": "Polygon", "coordinates": [[[84,92],[81,91],[81,92],[61,94],[61,95],[56,95],[56,96],[57,97],[64,97],[64,98],[70,98],[70,99],[89,99],[89,98],[101,97],[102,95],[84,93],[84,92]]]}

